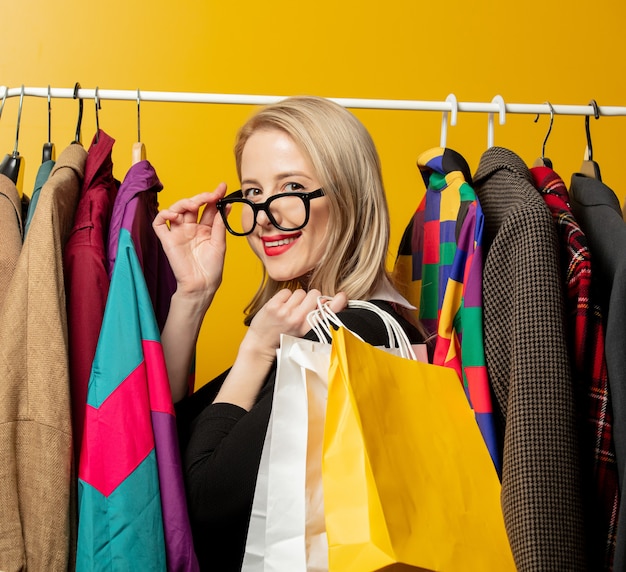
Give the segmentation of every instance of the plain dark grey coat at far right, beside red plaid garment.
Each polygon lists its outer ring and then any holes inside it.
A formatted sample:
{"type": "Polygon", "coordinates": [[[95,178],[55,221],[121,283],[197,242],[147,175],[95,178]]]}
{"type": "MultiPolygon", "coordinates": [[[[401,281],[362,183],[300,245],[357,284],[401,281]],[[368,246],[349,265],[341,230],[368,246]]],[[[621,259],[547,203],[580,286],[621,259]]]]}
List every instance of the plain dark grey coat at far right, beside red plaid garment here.
{"type": "MultiPolygon", "coordinates": [[[[626,486],[626,224],[619,199],[604,183],[572,175],[572,212],[583,229],[598,301],[606,320],[604,355],[613,407],[613,438],[620,491],[626,486]]],[[[626,569],[626,503],[620,502],[614,570],[626,569]]]]}

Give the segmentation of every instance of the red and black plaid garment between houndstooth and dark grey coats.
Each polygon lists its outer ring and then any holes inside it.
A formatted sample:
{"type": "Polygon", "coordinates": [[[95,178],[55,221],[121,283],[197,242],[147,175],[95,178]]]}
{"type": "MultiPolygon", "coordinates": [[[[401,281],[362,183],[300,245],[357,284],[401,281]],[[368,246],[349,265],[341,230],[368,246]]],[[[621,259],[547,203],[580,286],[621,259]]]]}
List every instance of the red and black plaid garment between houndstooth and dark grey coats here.
{"type": "Polygon", "coordinates": [[[547,167],[535,167],[531,172],[561,240],[572,373],[581,415],[582,474],[587,485],[583,490],[589,491],[586,499],[589,564],[594,570],[611,570],[619,489],[604,326],[602,311],[594,301],[591,256],[587,239],[572,214],[565,183],[547,167]]]}

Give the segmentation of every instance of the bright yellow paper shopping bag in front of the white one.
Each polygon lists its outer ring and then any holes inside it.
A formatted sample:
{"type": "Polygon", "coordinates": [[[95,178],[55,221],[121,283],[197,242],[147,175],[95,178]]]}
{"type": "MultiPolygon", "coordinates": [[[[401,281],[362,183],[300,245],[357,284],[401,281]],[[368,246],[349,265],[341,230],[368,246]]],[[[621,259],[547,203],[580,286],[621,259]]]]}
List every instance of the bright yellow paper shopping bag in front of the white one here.
{"type": "Polygon", "coordinates": [[[500,482],[456,373],[333,332],[322,479],[330,572],[515,570],[500,482]]]}

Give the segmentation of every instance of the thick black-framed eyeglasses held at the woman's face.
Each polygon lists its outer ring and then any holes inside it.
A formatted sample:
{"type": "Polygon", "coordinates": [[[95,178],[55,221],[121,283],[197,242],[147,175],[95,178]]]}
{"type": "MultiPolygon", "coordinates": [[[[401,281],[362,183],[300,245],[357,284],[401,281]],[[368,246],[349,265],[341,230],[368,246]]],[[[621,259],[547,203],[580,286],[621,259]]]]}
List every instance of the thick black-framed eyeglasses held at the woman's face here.
{"type": "Polygon", "coordinates": [[[311,201],[323,196],[324,191],[317,189],[311,193],[280,193],[263,203],[254,203],[243,198],[243,191],[235,191],[217,201],[216,207],[228,232],[235,236],[246,236],[254,230],[259,211],[263,211],[279,230],[304,228],[309,222],[311,201]]]}

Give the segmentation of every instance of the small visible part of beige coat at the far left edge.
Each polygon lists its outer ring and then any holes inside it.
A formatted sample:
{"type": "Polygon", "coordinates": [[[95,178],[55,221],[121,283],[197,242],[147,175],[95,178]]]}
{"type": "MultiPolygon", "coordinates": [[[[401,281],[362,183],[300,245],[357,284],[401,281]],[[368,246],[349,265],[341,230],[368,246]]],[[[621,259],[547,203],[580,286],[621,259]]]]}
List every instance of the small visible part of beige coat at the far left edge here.
{"type": "Polygon", "coordinates": [[[22,250],[22,205],[15,183],[0,175],[0,308],[22,250]]]}

